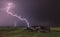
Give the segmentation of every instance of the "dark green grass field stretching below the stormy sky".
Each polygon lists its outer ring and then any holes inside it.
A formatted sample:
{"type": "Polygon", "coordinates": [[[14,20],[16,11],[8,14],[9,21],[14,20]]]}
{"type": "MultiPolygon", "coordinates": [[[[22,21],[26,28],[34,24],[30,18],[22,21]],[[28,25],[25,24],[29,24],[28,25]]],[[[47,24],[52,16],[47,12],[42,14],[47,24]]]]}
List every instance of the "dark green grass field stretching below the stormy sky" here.
{"type": "Polygon", "coordinates": [[[60,37],[60,28],[51,28],[51,32],[29,32],[22,28],[0,28],[0,37],[60,37]]]}

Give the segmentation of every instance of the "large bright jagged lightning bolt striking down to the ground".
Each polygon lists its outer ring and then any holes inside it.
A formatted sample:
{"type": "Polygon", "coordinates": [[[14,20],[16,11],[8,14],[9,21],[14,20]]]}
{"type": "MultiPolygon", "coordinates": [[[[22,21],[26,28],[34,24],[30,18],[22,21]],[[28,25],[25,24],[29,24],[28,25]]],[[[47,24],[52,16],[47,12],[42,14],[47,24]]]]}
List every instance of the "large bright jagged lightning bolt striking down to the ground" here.
{"type": "Polygon", "coordinates": [[[21,16],[18,16],[17,14],[13,14],[11,11],[10,11],[10,8],[12,7],[13,3],[8,3],[8,6],[7,6],[7,10],[6,10],[6,13],[9,14],[9,15],[12,15],[12,16],[15,16],[16,18],[18,18],[19,20],[22,20],[22,21],[25,21],[27,23],[27,27],[30,27],[29,26],[29,22],[26,18],[21,18],[21,16]]]}

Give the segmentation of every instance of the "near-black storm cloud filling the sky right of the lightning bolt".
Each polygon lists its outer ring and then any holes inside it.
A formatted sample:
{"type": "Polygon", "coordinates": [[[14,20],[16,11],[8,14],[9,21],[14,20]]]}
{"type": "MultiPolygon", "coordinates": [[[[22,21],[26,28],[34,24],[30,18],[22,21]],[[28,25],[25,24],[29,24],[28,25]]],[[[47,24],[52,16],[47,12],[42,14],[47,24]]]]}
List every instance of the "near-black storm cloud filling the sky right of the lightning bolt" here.
{"type": "Polygon", "coordinates": [[[25,0],[22,2],[24,14],[36,22],[60,22],[59,2],[53,0],[25,0]],[[55,3],[56,2],[56,3],[55,3]]]}

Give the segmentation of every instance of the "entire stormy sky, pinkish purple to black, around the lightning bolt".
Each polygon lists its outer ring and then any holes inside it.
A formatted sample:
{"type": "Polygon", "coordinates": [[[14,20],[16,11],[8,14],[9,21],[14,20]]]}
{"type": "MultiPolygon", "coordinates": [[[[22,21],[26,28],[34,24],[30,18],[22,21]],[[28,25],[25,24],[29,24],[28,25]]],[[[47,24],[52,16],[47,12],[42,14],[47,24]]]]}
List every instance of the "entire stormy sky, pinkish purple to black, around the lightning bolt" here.
{"type": "MultiPolygon", "coordinates": [[[[60,2],[53,0],[0,0],[0,9],[5,8],[6,2],[13,2],[14,14],[26,18],[30,25],[40,23],[60,23],[60,2]]],[[[5,10],[0,10],[0,26],[13,25],[16,17],[8,15],[5,10]]],[[[22,22],[21,20],[19,22],[22,22]]]]}

